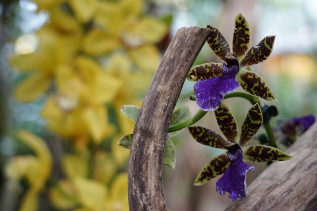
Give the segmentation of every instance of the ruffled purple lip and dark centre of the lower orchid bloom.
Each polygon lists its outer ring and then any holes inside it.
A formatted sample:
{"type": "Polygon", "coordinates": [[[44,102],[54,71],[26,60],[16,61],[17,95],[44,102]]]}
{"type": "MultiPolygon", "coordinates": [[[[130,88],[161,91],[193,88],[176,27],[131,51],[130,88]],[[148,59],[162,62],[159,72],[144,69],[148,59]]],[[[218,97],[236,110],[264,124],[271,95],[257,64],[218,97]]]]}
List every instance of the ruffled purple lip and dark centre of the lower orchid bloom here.
{"type": "Polygon", "coordinates": [[[253,172],[255,167],[247,165],[242,161],[242,150],[238,144],[228,148],[228,158],[230,165],[223,176],[216,182],[215,188],[219,195],[229,193],[229,198],[236,202],[245,199],[248,194],[247,176],[248,171],[253,172]]]}

